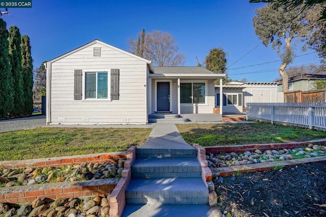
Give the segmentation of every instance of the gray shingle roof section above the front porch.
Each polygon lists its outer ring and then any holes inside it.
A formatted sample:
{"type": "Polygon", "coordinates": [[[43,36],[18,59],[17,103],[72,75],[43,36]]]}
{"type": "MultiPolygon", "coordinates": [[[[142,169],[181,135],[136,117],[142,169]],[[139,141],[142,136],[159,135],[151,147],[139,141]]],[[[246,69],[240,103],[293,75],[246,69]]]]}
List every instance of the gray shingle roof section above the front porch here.
{"type": "Polygon", "coordinates": [[[215,74],[204,67],[197,66],[164,66],[153,68],[154,74],[215,74]]]}

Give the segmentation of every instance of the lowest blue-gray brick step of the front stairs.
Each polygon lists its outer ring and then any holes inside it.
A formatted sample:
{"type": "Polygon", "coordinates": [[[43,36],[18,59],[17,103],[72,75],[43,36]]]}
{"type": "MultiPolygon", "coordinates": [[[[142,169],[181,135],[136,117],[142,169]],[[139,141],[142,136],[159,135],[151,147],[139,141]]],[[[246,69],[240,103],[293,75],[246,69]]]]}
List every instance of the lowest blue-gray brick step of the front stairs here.
{"type": "Polygon", "coordinates": [[[201,177],[132,178],[126,189],[128,204],[207,204],[208,188],[201,177]]]}

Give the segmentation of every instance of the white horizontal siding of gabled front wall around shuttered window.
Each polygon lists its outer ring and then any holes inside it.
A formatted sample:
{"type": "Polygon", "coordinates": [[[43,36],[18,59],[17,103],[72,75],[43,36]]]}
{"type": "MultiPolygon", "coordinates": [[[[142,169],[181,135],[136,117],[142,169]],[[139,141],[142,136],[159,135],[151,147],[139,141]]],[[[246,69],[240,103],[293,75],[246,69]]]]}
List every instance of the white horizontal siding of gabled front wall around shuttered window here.
{"type": "MultiPolygon", "coordinates": [[[[147,63],[119,50],[95,43],[51,64],[50,124],[145,124],[147,63]],[[101,57],[93,57],[101,47],[101,57]],[[108,99],[74,100],[74,70],[108,72],[108,99]],[[119,100],[110,99],[111,69],[120,70],[119,100]]],[[[83,83],[83,95],[85,91],[83,83]]]]}

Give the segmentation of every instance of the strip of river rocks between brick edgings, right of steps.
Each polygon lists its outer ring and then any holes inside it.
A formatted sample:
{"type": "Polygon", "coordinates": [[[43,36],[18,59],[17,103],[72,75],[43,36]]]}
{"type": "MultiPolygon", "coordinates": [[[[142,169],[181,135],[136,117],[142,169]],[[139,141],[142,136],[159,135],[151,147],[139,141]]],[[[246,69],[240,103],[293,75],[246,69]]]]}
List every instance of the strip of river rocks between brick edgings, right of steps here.
{"type": "Polygon", "coordinates": [[[219,155],[206,155],[208,166],[211,168],[221,168],[229,166],[240,166],[257,164],[260,162],[281,161],[288,159],[300,159],[307,157],[326,156],[326,146],[309,144],[307,147],[297,147],[293,149],[265,150],[256,149],[253,152],[224,153],[219,155]]]}

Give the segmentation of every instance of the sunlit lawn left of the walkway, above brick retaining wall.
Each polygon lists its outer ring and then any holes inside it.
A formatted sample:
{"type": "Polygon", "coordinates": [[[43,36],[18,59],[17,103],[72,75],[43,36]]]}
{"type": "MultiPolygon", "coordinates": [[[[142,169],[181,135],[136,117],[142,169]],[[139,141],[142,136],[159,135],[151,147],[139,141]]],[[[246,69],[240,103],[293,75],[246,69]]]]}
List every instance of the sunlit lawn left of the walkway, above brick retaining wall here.
{"type": "Polygon", "coordinates": [[[0,160],[126,151],[143,144],[148,128],[36,128],[0,133],[0,160]]]}

